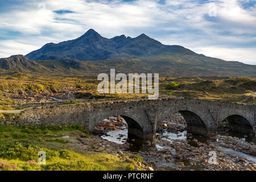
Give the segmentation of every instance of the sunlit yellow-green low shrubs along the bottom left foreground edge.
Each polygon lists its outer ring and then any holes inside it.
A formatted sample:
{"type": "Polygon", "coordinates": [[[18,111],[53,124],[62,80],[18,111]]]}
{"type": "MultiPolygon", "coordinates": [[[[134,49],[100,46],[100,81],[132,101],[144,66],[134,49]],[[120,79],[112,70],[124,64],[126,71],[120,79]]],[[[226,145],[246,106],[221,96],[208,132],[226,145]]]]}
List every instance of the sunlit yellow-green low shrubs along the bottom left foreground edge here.
{"type": "Polygon", "coordinates": [[[78,154],[50,150],[28,142],[13,142],[0,150],[0,170],[99,171],[134,169],[134,164],[106,153],[78,154]],[[46,152],[46,164],[39,165],[38,152],[46,152]]]}

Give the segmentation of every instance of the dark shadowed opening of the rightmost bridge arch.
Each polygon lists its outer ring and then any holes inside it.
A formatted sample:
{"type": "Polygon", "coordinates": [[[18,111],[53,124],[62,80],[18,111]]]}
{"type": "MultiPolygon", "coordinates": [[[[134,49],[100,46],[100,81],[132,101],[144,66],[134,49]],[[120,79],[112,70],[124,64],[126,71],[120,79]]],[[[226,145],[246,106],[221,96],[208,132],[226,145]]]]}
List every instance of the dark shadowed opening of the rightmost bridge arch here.
{"type": "Polygon", "coordinates": [[[221,119],[221,123],[227,122],[228,129],[230,131],[235,131],[238,133],[245,133],[245,134],[253,134],[253,126],[251,126],[251,123],[249,119],[246,117],[243,117],[242,115],[233,114],[229,115],[225,119],[221,119]]]}

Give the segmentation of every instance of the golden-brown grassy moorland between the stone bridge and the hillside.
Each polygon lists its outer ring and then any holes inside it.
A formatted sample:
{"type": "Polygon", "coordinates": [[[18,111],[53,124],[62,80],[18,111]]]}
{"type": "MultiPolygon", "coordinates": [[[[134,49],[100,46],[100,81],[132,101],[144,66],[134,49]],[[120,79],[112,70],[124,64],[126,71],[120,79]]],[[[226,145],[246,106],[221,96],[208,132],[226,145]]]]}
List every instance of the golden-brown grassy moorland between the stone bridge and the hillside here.
{"type": "MultiPolygon", "coordinates": [[[[24,109],[10,107],[18,100],[9,98],[8,92],[54,93],[73,90],[77,99],[84,98],[120,98],[143,97],[148,94],[99,94],[97,85],[100,81],[92,76],[34,76],[24,73],[13,73],[0,76],[0,110],[24,109]],[[5,92],[5,93],[4,93],[5,92]]],[[[229,78],[217,76],[201,77],[160,77],[159,94],[189,98],[203,98],[255,104],[250,93],[256,90],[256,79],[247,77],[229,78]]],[[[79,101],[64,102],[64,105],[79,104],[79,101]]]]}

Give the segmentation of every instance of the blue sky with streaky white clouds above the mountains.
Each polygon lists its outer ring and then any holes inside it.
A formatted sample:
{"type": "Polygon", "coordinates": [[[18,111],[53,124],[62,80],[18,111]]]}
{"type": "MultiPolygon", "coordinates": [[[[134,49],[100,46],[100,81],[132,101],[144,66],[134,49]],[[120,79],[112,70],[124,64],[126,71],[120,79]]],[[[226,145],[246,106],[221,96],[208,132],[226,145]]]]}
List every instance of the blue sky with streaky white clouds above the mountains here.
{"type": "Polygon", "coordinates": [[[0,1],[0,57],[83,35],[146,34],[227,61],[256,65],[256,0],[0,1]]]}

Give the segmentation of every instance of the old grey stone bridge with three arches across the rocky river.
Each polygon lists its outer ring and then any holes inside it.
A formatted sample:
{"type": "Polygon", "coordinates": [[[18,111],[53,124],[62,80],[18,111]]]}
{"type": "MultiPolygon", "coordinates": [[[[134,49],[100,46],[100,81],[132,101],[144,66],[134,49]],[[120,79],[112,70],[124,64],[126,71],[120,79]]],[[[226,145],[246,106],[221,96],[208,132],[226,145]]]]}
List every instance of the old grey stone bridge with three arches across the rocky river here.
{"type": "Polygon", "coordinates": [[[82,104],[40,106],[25,109],[19,125],[63,125],[80,123],[88,131],[104,119],[121,115],[128,124],[128,134],[152,139],[160,121],[179,111],[187,121],[189,133],[216,136],[218,123],[227,119],[233,131],[256,134],[256,105],[183,97],[117,98],[84,100],[82,104]]]}

